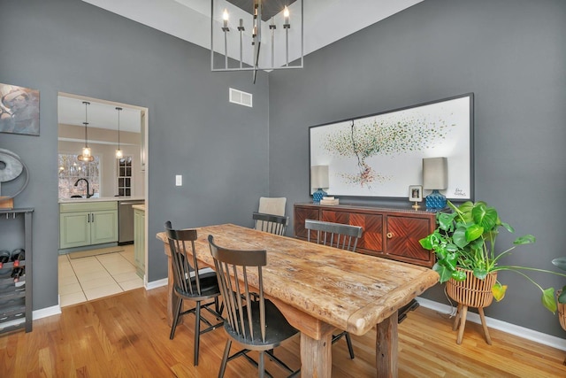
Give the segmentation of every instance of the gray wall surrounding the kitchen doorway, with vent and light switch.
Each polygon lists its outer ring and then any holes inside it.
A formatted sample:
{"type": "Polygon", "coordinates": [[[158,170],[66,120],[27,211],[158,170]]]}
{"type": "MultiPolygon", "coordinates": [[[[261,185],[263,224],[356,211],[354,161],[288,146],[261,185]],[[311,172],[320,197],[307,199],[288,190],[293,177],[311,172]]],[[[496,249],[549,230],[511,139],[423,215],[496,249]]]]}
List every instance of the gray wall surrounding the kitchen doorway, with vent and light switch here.
{"type": "Polygon", "coordinates": [[[0,148],[30,170],[15,203],[35,208],[34,309],[57,305],[58,91],[149,108],[149,282],[167,275],[155,238],[165,220],[251,226],[269,194],[265,73],[256,85],[251,73],[210,73],[207,50],[79,0],[0,0],[0,9],[0,82],[41,96],[40,136],[0,134],[0,148]],[[229,87],[253,93],[254,108],[228,104],[229,87]]]}

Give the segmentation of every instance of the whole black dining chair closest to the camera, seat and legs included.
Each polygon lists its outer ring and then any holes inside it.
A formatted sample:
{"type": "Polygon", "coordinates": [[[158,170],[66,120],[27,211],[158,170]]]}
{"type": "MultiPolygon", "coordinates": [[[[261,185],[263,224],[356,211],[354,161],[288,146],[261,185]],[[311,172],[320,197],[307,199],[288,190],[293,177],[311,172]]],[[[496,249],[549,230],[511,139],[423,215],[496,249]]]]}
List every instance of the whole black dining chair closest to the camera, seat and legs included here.
{"type": "Polygon", "coordinates": [[[224,298],[224,329],[228,336],[218,377],[224,376],[228,361],[241,356],[257,366],[260,378],[264,377],[264,354],[294,376],[298,371],[294,372],[275,357],[272,351],[279,344],[299,334],[299,331],[288,323],[283,313],[269,299],[264,298],[262,268],[267,265],[267,251],[223,248],[214,243],[212,235],[209,235],[209,245],[224,298]],[[252,300],[251,296],[251,273],[256,276],[253,289],[258,291],[257,300],[252,300]],[[230,355],[233,342],[241,344],[244,349],[230,355]],[[249,351],[259,351],[258,362],[249,357],[249,351]]]}

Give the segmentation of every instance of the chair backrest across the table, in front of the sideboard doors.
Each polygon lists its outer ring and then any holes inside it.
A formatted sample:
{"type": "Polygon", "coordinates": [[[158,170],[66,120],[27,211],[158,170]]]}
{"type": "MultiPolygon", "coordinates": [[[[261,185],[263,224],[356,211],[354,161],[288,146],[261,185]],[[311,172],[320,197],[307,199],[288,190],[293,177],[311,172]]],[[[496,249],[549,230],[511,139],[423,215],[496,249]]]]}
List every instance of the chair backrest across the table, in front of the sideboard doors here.
{"type": "Polygon", "coordinates": [[[307,240],[310,242],[310,231],[317,232],[317,243],[330,245],[342,250],[356,251],[357,241],[362,237],[360,226],[341,223],[325,222],[322,220],[305,220],[304,228],[308,231],[307,240]]]}

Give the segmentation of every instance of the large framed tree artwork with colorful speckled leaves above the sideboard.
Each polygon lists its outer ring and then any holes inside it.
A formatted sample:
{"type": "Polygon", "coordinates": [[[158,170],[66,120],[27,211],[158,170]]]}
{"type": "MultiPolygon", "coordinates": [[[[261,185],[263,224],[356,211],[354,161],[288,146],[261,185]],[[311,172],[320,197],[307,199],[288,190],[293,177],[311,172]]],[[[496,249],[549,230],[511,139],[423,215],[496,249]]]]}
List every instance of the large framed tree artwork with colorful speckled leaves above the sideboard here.
{"type": "Polygon", "coordinates": [[[310,127],[310,166],[328,166],[330,196],[407,198],[409,186],[423,183],[423,158],[443,157],[440,192],[472,200],[473,103],[468,93],[310,127]]]}

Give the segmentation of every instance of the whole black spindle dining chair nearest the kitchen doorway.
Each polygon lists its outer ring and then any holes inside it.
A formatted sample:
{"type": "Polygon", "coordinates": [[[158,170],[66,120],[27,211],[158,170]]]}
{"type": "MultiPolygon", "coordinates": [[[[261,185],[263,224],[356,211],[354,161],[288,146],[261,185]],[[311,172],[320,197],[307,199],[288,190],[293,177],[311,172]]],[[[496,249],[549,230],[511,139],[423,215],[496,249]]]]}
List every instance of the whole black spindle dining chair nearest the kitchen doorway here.
{"type": "Polygon", "coordinates": [[[210,312],[216,320],[221,320],[222,307],[218,305],[220,287],[216,272],[210,269],[199,270],[195,255],[195,229],[172,229],[171,221],[165,222],[165,232],[171,248],[171,261],[173,271],[173,293],[177,297],[176,307],[173,309],[174,318],[169,338],[175,336],[175,329],[179,318],[187,313],[195,314],[195,354],[194,364],[198,366],[198,351],[200,336],[222,326],[223,321],[212,324],[201,316],[201,310],[210,312]],[[195,302],[195,307],[183,311],[183,301],[195,302]],[[212,301],[210,301],[212,300],[212,301]],[[205,302],[210,301],[210,302],[205,302]],[[203,302],[205,302],[203,304],[203,302]],[[214,305],[214,309],[210,308],[214,305]],[[201,329],[201,321],[208,327],[201,329]]]}

